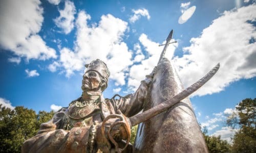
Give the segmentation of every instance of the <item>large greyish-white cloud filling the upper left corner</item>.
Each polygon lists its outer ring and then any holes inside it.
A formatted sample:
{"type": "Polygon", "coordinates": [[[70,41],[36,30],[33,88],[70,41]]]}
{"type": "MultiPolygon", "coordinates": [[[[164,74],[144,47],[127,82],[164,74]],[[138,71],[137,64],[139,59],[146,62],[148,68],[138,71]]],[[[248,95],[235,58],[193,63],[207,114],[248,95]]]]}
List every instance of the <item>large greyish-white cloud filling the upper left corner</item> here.
{"type": "Polygon", "coordinates": [[[39,0],[3,1],[0,5],[0,46],[18,57],[56,58],[53,48],[37,34],[44,17],[39,0]]]}

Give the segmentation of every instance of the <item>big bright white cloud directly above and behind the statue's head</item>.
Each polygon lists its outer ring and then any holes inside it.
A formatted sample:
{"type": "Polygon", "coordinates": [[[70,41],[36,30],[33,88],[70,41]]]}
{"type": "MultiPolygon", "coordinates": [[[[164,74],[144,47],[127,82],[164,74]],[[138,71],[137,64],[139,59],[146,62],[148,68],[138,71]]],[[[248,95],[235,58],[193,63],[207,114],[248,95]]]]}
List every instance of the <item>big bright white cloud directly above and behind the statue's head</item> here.
{"type": "Polygon", "coordinates": [[[111,71],[110,79],[115,81],[115,85],[124,85],[125,72],[133,64],[132,53],[122,41],[127,22],[111,14],[101,16],[98,24],[89,25],[90,19],[91,16],[86,12],[78,13],[75,47],[74,50],[60,50],[60,67],[63,67],[67,77],[70,77],[74,71],[83,70],[84,64],[100,59],[108,65],[111,71]]]}

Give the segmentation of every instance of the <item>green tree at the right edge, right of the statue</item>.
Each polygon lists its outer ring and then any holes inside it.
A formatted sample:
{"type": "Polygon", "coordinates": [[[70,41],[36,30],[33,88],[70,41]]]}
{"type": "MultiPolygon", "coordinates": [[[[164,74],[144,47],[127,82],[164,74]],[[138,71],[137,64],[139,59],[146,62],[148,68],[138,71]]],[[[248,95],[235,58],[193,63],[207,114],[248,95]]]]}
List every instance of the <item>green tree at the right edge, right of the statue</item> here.
{"type": "Polygon", "coordinates": [[[246,98],[236,107],[236,112],[227,119],[233,128],[239,127],[233,137],[232,152],[256,152],[256,98],[246,98]]]}

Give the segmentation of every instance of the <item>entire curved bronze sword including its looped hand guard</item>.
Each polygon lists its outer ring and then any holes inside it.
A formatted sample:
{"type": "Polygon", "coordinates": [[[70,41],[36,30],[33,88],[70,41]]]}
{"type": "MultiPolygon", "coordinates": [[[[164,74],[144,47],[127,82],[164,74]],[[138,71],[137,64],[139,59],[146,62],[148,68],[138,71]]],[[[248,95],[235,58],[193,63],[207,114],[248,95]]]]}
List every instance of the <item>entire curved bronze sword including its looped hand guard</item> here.
{"type": "Polygon", "coordinates": [[[152,117],[154,117],[154,116],[164,112],[165,110],[173,107],[177,103],[180,103],[180,101],[182,99],[189,96],[191,93],[195,92],[200,87],[202,87],[207,81],[209,81],[216,74],[216,72],[218,71],[219,68],[220,68],[220,63],[218,63],[207,74],[205,74],[203,78],[201,78],[199,81],[197,81],[196,83],[194,83],[190,87],[186,88],[185,90],[183,90],[179,94],[175,95],[174,97],[164,101],[163,103],[161,103],[161,104],[159,104],[159,105],[157,105],[157,106],[155,106],[155,107],[153,107],[149,110],[146,110],[145,112],[142,112],[141,114],[137,114],[137,115],[134,115],[132,117],[126,118],[121,113],[121,111],[118,110],[118,114],[111,114],[108,117],[106,117],[102,122],[101,133],[102,133],[103,138],[106,140],[106,142],[108,142],[109,148],[110,148],[111,145],[110,145],[109,141],[106,138],[105,123],[110,118],[119,118],[120,119],[120,121],[117,121],[117,122],[113,123],[110,126],[110,129],[108,130],[108,137],[109,137],[110,141],[115,145],[116,152],[121,152],[129,144],[129,141],[130,141],[130,138],[131,138],[131,135],[130,135],[131,130],[130,129],[131,129],[132,126],[135,126],[135,125],[137,125],[141,122],[144,122],[148,119],[151,119],[152,117]],[[115,139],[111,135],[111,129],[113,128],[113,126],[115,126],[117,124],[123,125],[124,128],[125,128],[126,134],[127,134],[127,141],[126,141],[126,144],[123,148],[118,147],[118,143],[115,141],[115,139]]]}

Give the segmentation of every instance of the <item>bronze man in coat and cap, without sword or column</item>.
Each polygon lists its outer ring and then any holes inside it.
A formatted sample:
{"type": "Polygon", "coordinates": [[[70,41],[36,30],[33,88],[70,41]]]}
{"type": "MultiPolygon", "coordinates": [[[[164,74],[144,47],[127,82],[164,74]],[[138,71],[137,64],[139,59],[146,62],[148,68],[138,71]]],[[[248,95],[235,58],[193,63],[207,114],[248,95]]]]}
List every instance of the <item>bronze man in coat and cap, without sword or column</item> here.
{"type": "MultiPolygon", "coordinates": [[[[42,123],[37,135],[24,142],[22,152],[110,152],[114,148],[109,136],[102,134],[102,121],[117,112],[121,112],[124,117],[139,113],[143,109],[152,78],[147,77],[142,81],[134,94],[105,99],[102,92],[108,86],[108,67],[98,59],[86,67],[81,97],[72,101],[68,107],[61,108],[50,121],[42,123]]],[[[105,124],[106,129],[117,121],[109,120],[105,124]]],[[[131,130],[130,125],[125,126],[131,130]]],[[[111,131],[112,138],[119,145],[128,135],[124,126],[116,126],[111,131]]],[[[126,147],[125,151],[131,152],[131,146],[126,147]]]]}

